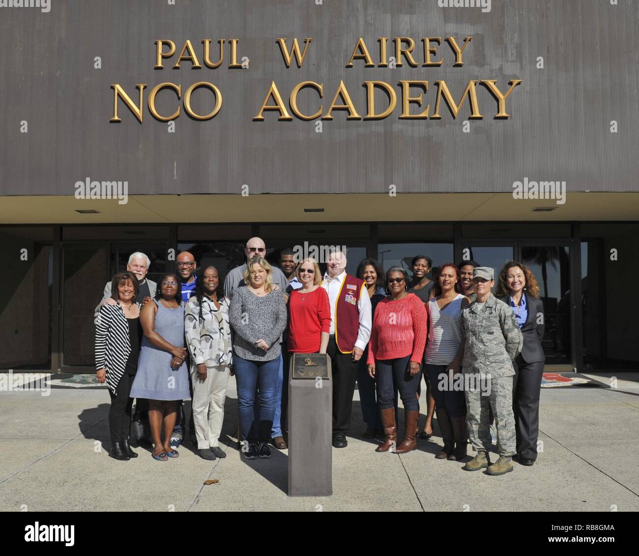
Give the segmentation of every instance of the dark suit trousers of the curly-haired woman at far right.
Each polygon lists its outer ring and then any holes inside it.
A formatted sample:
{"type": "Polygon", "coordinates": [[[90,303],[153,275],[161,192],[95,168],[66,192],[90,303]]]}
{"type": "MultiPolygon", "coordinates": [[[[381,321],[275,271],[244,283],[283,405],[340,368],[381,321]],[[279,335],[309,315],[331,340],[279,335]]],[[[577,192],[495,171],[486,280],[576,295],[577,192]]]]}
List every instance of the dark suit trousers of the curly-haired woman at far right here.
{"type": "Polygon", "coordinates": [[[521,355],[512,361],[512,411],[515,415],[517,453],[520,457],[537,459],[539,436],[539,395],[544,362],[526,363],[521,355]]]}

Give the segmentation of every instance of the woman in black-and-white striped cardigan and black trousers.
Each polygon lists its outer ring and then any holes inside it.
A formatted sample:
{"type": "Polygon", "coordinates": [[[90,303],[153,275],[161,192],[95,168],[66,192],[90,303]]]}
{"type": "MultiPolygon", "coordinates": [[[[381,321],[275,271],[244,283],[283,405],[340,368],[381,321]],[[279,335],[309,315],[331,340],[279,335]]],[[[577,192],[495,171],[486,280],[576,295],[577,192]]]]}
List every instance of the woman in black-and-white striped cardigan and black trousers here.
{"type": "Polygon", "coordinates": [[[127,461],[137,454],[128,445],[131,428],[131,386],[140,353],[140,304],[135,303],[139,285],[135,274],[121,272],[113,277],[111,296],[117,305],[103,305],[95,321],[95,367],[101,383],[111,395],[109,428],[111,457],[127,461]]]}

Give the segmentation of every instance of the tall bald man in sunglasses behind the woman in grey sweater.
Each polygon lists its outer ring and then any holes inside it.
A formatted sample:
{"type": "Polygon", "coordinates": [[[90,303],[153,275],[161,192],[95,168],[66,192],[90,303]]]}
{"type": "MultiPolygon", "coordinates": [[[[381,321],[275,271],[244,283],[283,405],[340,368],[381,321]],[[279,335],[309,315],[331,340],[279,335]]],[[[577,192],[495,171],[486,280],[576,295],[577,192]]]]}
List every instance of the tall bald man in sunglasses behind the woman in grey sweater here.
{"type": "MultiPolygon", "coordinates": [[[[224,296],[231,301],[233,299],[233,294],[238,287],[245,285],[244,283],[244,269],[247,266],[249,260],[253,257],[264,257],[266,258],[266,244],[261,239],[261,237],[251,237],[249,241],[246,242],[246,248],[244,250],[246,255],[246,262],[241,265],[235,267],[231,272],[229,272],[224,280],[224,296]]],[[[286,280],[286,276],[280,269],[279,266],[273,265],[273,285],[277,286],[282,292],[286,292],[286,287],[288,287],[288,280],[286,280]]],[[[282,344],[282,338],[280,337],[280,344],[282,344]]],[[[282,348],[281,351],[286,350],[286,344],[284,346],[280,346],[282,348]]],[[[282,384],[284,383],[284,366],[282,363],[282,355],[280,354],[279,360],[279,375],[277,378],[277,399],[275,400],[275,416],[273,417],[273,429],[271,431],[271,438],[273,441],[273,446],[278,450],[286,449],[286,441],[284,440],[284,435],[282,433],[282,384]]],[[[254,405],[254,413],[255,420],[259,420],[259,399],[258,396],[255,397],[255,405],[254,405]]]]}

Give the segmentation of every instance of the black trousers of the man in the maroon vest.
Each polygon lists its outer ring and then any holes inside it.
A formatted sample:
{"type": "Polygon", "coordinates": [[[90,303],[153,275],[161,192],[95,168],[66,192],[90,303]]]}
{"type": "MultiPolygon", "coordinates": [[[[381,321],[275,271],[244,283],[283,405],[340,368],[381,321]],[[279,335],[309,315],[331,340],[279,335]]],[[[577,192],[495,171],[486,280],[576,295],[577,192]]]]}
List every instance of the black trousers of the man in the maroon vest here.
{"type": "Polygon", "coordinates": [[[353,361],[351,353],[341,353],[334,336],[328,338],[327,354],[333,373],[333,434],[346,433],[351,421],[359,361],[353,361]]]}

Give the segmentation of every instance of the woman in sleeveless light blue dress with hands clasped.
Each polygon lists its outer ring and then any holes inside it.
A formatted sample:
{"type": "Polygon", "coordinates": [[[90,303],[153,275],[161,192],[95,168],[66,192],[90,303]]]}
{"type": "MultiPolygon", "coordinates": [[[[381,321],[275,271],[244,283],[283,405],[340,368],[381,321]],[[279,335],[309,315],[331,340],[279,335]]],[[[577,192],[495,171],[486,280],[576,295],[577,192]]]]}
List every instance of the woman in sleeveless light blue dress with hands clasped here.
{"type": "Polygon", "coordinates": [[[149,401],[152,455],[158,461],[180,455],[169,442],[178,402],[190,396],[181,290],[180,279],[175,274],[164,274],[158,282],[155,299],[146,303],[140,312],[144,338],[130,395],[149,401]],[[164,441],[160,439],[163,421],[164,441]]]}

